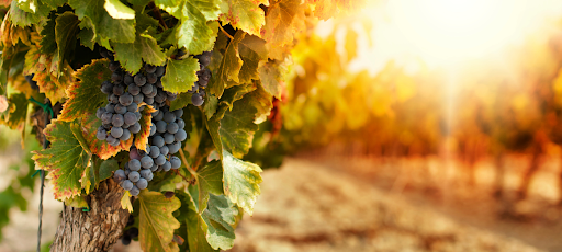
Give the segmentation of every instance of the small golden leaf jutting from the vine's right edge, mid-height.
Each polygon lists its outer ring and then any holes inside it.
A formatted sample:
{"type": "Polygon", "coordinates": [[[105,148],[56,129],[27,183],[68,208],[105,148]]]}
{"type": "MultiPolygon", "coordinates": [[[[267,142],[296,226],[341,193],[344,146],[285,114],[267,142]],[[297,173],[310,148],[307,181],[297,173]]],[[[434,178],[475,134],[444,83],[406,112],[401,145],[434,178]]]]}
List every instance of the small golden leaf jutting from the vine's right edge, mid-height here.
{"type": "Polygon", "coordinates": [[[281,99],[281,92],[286,80],[289,60],[269,60],[258,68],[261,85],[271,95],[281,99]]]}

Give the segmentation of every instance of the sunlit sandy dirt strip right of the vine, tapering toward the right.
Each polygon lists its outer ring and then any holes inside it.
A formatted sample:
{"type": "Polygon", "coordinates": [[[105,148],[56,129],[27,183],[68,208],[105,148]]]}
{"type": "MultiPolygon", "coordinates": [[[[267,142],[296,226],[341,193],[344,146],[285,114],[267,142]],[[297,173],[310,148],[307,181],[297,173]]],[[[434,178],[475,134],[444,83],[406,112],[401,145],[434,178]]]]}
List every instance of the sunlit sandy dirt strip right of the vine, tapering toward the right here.
{"type": "Polygon", "coordinates": [[[541,251],[301,159],[263,173],[233,251],[541,251]]]}

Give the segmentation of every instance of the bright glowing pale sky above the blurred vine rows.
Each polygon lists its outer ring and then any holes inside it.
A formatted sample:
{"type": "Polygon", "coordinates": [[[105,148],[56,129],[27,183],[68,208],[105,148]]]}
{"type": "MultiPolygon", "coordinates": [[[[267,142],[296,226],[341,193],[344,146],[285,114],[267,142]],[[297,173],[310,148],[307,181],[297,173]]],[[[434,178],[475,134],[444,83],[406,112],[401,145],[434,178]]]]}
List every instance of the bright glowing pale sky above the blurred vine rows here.
{"type": "Polygon", "coordinates": [[[562,0],[387,0],[363,14],[373,20],[373,46],[359,39],[364,53],[353,68],[374,73],[393,59],[415,71],[419,61],[450,67],[501,56],[562,19],[562,0]]]}

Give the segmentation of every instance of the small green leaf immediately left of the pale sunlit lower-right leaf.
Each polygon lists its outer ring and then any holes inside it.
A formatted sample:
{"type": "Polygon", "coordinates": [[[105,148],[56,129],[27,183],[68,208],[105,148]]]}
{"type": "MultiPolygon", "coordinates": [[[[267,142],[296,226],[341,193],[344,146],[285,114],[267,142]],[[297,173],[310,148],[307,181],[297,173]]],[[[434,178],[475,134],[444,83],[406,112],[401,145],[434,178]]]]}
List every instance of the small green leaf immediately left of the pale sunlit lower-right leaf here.
{"type": "Polygon", "coordinates": [[[223,168],[220,161],[212,161],[206,163],[203,169],[196,171],[196,184],[190,185],[188,190],[190,195],[196,196],[195,209],[198,213],[203,213],[206,208],[209,194],[220,195],[223,194],[223,168]]]}

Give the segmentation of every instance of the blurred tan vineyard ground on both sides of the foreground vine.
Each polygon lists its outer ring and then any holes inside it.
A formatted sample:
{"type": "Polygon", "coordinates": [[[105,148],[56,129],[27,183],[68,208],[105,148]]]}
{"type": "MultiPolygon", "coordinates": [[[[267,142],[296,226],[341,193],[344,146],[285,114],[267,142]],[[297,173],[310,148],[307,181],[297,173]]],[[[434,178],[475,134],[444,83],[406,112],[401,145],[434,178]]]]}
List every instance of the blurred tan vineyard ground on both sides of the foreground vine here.
{"type": "MultiPolygon", "coordinates": [[[[254,216],[239,224],[232,251],[562,251],[560,209],[550,204],[555,195],[541,191],[552,184],[558,161],[544,164],[531,199],[505,215],[490,196],[490,162],[479,165],[477,183],[469,186],[454,179],[461,169],[442,176],[447,162],[437,159],[334,157],[286,158],[281,169],[266,170],[254,216]]],[[[12,213],[0,252],[34,250],[35,209],[12,213]]],[[[59,210],[60,203],[46,201],[44,242],[59,210]]],[[[114,252],[138,249],[133,242],[114,252]]]]}

